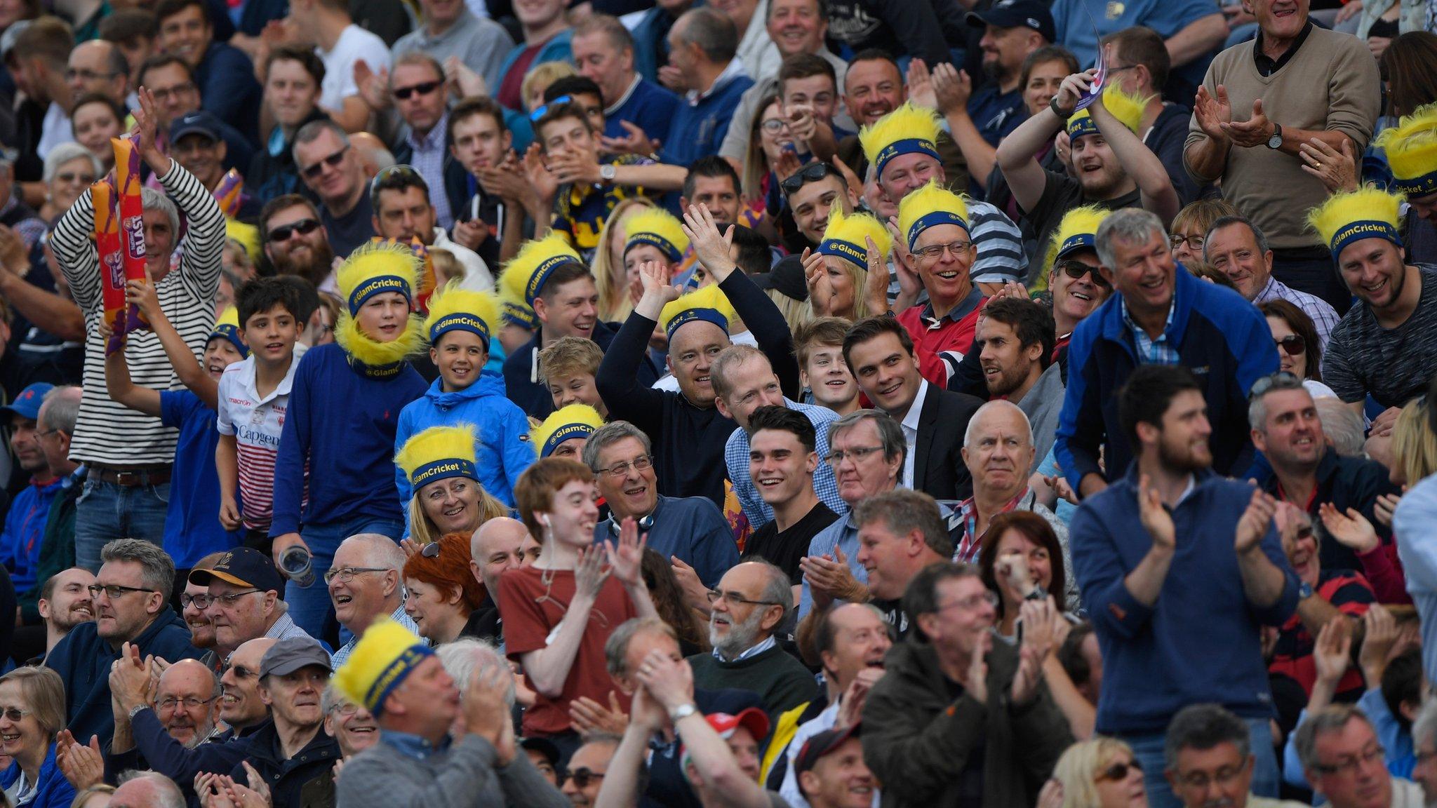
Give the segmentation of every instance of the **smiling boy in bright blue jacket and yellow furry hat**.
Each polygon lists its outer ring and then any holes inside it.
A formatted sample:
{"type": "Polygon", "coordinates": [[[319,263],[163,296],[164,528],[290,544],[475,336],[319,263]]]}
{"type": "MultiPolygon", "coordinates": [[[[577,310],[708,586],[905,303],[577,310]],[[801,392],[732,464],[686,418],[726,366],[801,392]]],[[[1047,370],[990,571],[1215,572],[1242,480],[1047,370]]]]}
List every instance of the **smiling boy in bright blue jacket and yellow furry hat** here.
{"type": "MultiPolygon", "coordinates": [[[[448,286],[430,299],[425,322],[430,361],[440,371],[424,395],[399,413],[394,436],[398,450],[410,437],[440,426],[474,426],[474,466],[479,483],[494,499],[514,506],[514,483],[535,462],[529,418],[504,398],[504,378],[487,369],[489,341],[499,306],[493,295],[448,286]]],[[[397,464],[398,466],[398,464],[397,464]]],[[[399,502],[408,505],[414,486],[404,469],[395,469],[399,502]]],[[[408,513],[408,509],[405,509],[408,513]]]]}

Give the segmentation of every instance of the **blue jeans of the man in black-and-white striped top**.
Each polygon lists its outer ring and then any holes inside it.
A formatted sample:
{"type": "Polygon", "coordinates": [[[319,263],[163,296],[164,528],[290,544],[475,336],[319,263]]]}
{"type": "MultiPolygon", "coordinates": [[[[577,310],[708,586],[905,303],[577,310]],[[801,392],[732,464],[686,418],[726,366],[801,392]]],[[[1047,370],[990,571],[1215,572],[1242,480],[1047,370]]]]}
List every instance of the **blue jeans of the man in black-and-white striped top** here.
{"type": "Polygon", "coordinates": [[[170,483],[118,486],[91,476],[75,500],[75,564],[99,572],[99,554],[115,539],[164,546],[168,510],[170,483]]]}

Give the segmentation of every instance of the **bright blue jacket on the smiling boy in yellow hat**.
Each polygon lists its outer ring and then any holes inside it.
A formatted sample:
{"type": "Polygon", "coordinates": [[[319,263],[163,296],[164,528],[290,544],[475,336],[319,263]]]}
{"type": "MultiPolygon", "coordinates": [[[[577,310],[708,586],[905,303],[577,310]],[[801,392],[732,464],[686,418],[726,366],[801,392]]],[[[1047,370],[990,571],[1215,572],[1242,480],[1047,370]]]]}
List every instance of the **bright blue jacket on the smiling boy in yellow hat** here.
{"type": "MultiPolygon", "coordinates": [[[[529,443],[529,418],[517,404],[504,398],[504,380],[494,371],[486,368],[474,384],[454,392],[444,392],[443,384],[443,378],[434,380],[422,397],[399,413],[394,450],[398,451],[415,433],[430,427],[473,424],[479,431],[479,440],[474,441],[479,483],[490,496],[513,508],[514,483],[537,459],[529,443]]],[[[414,489],[410,487],[404,469],[395,467],[394,479],[399,487],[399,502],[410,502],[414,489]]],[[[410,509],[405,508],[404,513],[408,516],[410,509]]]]}

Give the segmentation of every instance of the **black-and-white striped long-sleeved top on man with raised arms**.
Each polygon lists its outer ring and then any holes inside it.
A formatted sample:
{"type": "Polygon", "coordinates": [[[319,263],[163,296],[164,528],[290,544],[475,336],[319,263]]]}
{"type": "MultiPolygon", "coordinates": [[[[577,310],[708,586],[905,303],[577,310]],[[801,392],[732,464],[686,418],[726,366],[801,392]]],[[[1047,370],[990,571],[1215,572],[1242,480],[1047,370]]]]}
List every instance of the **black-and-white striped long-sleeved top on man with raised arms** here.
{"type": "MultiPolygon", "coordinates": [[[[220,257],[224,252],[224,213],[214,196],[178,162],[160,178],[175,201],[188,231],[180,243],[180,267],[155,283],[160,308],[195,354],[204,352],[214,328],[214,295],[220,285],[220,257]]],[[[55,226],[50,247],[70,285],[70,295],[85,312],[85,391],[79,421],[70,441],[70,460],[111,466],[141,466],[174,462],[178,433],[112,401],[105,391],[105,345],[96,331],[103,296],[99,257],[95,252],[95,207],[89,194],[80,194],[55,226]]],[[[129,335],[125,346],[131,380],[152,390],[180,390],[180,378],[160,338],[152,331],[129,335]]]]}

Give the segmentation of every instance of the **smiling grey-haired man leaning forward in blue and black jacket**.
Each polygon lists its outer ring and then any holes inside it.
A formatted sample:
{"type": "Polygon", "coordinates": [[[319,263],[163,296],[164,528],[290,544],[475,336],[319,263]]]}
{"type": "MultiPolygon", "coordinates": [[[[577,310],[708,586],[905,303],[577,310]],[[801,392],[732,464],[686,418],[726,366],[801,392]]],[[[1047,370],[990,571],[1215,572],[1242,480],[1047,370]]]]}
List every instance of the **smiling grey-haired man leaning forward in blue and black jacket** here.
{"type": "Polygon", "coordinates": [[[1099,272],[1117,293],[1078,323],[1068,345],[1068,391],[1053,450],[1069,485],[1086,497],[1128,470],[1135,447],[1121,428],[1114,394],[1141,365],[1196,372],[1207,400],[1213,470],[1247,469],[1247,391],[1277,371],[1267,321],[1232,289],[1178,272],[1167,230],[1152,213],[1112,213],[1098,226],[1096,249],[1099,272]]]}

